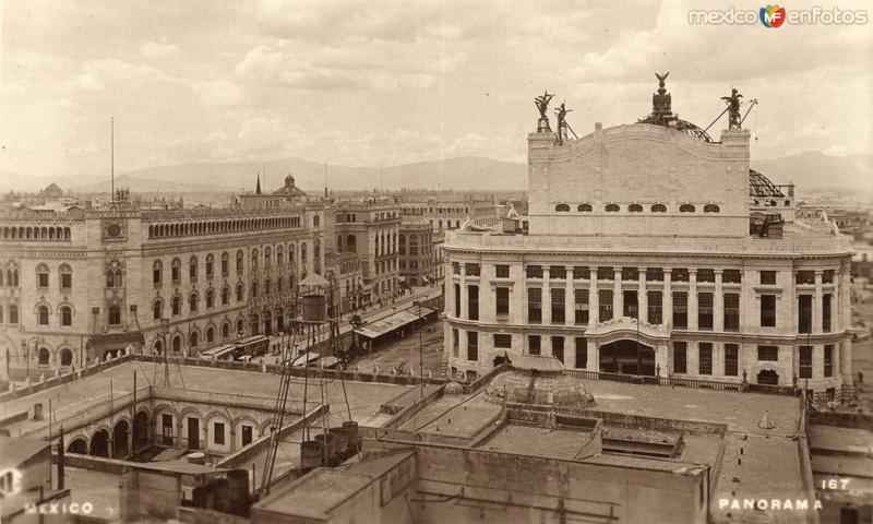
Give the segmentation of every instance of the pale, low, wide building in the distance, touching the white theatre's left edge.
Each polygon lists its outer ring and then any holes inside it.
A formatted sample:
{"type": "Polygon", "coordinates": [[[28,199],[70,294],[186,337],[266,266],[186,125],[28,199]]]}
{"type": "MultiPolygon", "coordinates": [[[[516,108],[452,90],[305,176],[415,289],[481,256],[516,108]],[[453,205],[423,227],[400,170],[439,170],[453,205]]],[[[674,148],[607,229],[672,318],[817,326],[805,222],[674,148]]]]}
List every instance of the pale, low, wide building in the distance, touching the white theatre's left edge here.
{"type": "Polygon", "coordinates": [[[433,233],[457,229],[469,218],[475,226],[493,226],[500,222],[498,205],[493,199],[474,195],[439,195],[398,202],[404,216],[423,218],[433,233]]]}

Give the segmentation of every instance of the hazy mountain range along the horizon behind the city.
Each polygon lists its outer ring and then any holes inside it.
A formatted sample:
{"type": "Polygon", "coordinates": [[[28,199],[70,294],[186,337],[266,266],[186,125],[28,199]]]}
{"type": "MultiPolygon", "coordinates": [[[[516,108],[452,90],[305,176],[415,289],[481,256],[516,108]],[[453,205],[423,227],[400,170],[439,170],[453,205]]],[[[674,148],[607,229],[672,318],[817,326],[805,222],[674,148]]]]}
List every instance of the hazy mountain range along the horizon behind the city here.
{"type": "MultiPolygon", "coordinates": [[[[780,158],[753,159],[753,169],[775,183],[793,182],[798,189],[833,189],[873,192],[873,155],[830,156],[809,152],[780,158]]],[[[284,184],[287,174],[296,186],[310,193],[332,190],[453,189],[457,191],[523,191],[527,186],[527,165],[466,156],[378,167],[335,166],[299,158],[270,162],[192,163],[150,167],[120,172],[116,187],[133,192],[191,193],[239,192],[253,190],[261,176],[264,191],[284,184]],[[326,177],[325,177],[326,171],[326,177]],[[264,176],[266,174],[266,176],[264,176]]],[[[51,182],[64,191],[108,192],[108,177],[24,177],[0,171],[0,191],[35,191],[51,182]]]]}

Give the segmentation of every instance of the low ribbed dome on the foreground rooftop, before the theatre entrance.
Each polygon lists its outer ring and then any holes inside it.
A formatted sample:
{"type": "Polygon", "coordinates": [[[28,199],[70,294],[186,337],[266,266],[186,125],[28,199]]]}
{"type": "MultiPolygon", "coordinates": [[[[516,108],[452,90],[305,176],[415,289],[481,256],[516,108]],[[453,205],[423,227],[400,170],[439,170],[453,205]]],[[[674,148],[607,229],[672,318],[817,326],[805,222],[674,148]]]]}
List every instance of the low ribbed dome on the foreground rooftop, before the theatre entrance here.
{"type": "Polygon", "coordinates": [[[512,371],[501,373],[488,384],[486,400],[585,409],[594,406],[594,395],[578,380],[564,374],[564,366],[551,356],[519,355],[512,371]]]}

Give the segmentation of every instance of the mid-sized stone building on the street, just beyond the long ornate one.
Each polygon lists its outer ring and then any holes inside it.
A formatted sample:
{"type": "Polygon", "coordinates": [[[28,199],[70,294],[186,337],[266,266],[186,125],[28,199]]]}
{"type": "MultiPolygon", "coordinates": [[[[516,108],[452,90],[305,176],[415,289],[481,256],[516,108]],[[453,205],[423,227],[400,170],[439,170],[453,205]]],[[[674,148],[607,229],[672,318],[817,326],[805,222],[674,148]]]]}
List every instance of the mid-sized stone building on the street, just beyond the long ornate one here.
{"type": "Polygon", "coordinates": [[[380,201],[338,202],[328,207],[325,241],[331,251],[358,254],[363,274],[360,302],[386,302],[399,285],[397,236],[400,213],[380,201]]]}

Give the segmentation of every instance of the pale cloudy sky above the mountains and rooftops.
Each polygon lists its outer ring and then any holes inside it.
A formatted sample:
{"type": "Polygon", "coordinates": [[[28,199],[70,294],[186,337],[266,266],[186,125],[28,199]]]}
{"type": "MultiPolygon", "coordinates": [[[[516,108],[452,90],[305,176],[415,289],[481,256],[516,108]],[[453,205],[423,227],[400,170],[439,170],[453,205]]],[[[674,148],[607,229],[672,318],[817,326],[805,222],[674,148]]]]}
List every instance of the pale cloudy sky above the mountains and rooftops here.
{"type": "Polygon", "coordinates": [[[4,0],[0,177],[107,174],[110,116],[117,172],[526,162],[543,90],[583,135],[646,116],[656,71],[670,72],[673,111],[701,127],[731,86],[757,98],[744,124],[753,157],[873,153],[873,22],[689,22],[691,9],[731,5],[762,4],[4,0]]]}

